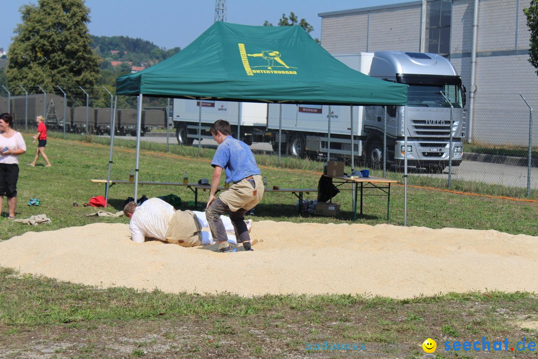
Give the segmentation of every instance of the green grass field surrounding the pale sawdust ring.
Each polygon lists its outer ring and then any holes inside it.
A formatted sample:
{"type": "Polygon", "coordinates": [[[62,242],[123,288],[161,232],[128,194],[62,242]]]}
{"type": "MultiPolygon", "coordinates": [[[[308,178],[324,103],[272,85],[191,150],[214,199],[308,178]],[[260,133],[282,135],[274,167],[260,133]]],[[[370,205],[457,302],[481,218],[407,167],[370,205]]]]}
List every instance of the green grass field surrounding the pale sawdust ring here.
{"type": "MultiPolygon", "coordinates": [[[[30,135],[29,151],[19,157],[17,217],[46,213],[52,223],[25,226],[0,218],[0,241],[26,231],[54,230],[95,222],[128,221],[124,217],[88,217],[95,208],[83,207],[92,196],[104,195],[104,186],[90,179],[106,179],[109,146],[106,139],[68,136],[51,138],[47,154],[53,166],[43,160],[31,168],[34,153],[30,135]],[[37,197],[40,207],[27,206],[37,197]],[[73,202],[79,207],[73,207],[73,202]]],[[[210,158],[214,152],[172,145],[142,143],[139,180],[189,181],[210,179],[210,158]]],[[[134,142],[116,141],[112,179],[128,179],[135,167],[134,142]]],[[[278,168],[274,156],[257,156],[270,186],[317,187],[323,164],[316,161],[282,159],[278,168]]],[[[373,172],[373,175],[380,175],[373,172]]],[[[400,177],[401,174],[391,173],[400,177]]],[[[433,179],[424,186],[434,187],[433,179]]],[[[484,194],[486,186],[460,184],[484,194]],[[482,189],[481,189],[482,188],[482,189]]],[[[194,195],[188,188],[140,186],[138,196],[179,195],[183,208],[193,208],[194,195]]],[[[110,188],[110,212],[121,210],[133,196],[132,185],[110,188]]],[[[201,203],[208,194],[201,194],[201,203]]],[[[401,225],[404,218],[404,189],[391,188],[391,220],[401,225]]],[[[315,199],[315,194],[306,198],[315,199]]],[[[304,215],[295,209],[291,194],[267,194],[256,209],[256,221],[351,223],[351,195],[338,194],[341,216],[304,215]]],[[[4,205],[5,206],[5,205],[4,205]]],[[[408,189],[408,225],[430,228],[457,227],[494,229],[512,234],[538,236],[538,203],[486,196],[462,195],[435,189],[408,189]]],[[[386,202],[377,196],[365,198],[365,216],[358,223],[387,223],[386,202]]],[[[0,263],[0,266],[2,264],[0,263]]],[[[484,269],[487,270],[487,269],[484,269]]],[[[248,280],[248,279],[245,279],[248,280]]],[[[255,279],[254,279],[255,280],[255,279]]],[[[445,341],[478,340],[492,343],[508,339],[515,345],[538,341],[538,298],[535,293],[471,292],[447,293],[410,300],[365,298],[360,295],[265,295],[244,298],[235,294],[168,294],[158,290],[141,292],[130,288],[99,289],[0,269],[0,358],[205,358],[316,357],[306,350],[308,343],[366,343],[361,356],[419,358],[421,343],[428,337],[445,341]],[[400,348],[394,353],[394,343],[400,348]],[[391,347],[392,345],[392,347],[391,347]],[[374,351],[374,348],[378,351],[374,351]],[[403,348],[403,349],[402,349],[403,348]]],[[[449,357],[438,349],[438,358],[449,357]]],[[[536,351],[503,352],[487,357],[538,357],[536,351]]],[[[452,353],[454,355],[454,353],[452,353]]],[[[473,352],[457,357],[476,357],[473,352]]],[[[456,357],[456,356],[450,356],[456,357]]]]}

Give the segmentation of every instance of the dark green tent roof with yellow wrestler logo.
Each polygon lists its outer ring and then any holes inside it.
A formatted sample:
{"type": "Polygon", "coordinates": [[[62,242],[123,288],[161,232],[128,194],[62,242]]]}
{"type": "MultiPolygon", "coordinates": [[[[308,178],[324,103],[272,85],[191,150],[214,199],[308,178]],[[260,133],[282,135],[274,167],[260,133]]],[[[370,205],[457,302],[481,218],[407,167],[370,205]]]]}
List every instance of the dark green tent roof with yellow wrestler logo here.
{"type": "Polygon", "coordinates": [[[117,95],[314,104],[405,105],[407,86],[333,58],[300,26],[217,22],[171,58],[119,76],[117,95]]]}

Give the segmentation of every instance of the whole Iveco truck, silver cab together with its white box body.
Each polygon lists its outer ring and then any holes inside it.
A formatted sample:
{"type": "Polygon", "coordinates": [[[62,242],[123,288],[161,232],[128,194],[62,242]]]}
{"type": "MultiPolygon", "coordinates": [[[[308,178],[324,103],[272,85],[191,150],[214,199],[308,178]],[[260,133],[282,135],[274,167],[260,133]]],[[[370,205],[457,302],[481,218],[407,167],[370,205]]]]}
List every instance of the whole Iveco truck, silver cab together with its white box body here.
{"type": "Polygon", "coordinates": [[[407,121],[407,158],[409,165],[441,172],[448,165],[461,163],[465,136],[464,87],[454,66],[437,54],[379,51],[341,53],[334,57],[357,71],[385,81],[409,85],[408,105],[268,105],[267,128],[273,133],[273,150],[278,149],[281,125],[281,151],[295,157],[349,156],[351,130],[355,153],[363,153],[372,167],[383,165],[386,118],[386,158],[390,163],[404,160],[404,125],[407,121]],[[452,123],[450,123],[450,101],[452,123]],[[330,114],[329,114],[330,111],[330,114]],[[386,114],[386,115],[385,115],[386,114]],[[330,117],[329,117],[330,116],[330,117]],[[329,121],[330,119],[330,121],[329,121]],[[452,148],[449,150],[450,131],[452,148]],[[328,135],[330,133],[330,136],[328,135]]]}

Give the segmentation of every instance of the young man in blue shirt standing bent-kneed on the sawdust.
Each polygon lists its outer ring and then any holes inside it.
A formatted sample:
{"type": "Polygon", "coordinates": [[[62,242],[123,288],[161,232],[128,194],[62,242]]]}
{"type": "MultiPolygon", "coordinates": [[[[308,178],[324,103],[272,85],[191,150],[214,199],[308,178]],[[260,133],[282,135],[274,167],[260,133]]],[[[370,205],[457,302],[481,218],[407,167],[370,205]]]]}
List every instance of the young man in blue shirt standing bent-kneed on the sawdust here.
{"type": "Polygon", "coordinates": [[[249,231],[245,224],[245,213],[256,206],[263,197],[264,184],[261,172],[256,165],[254,154],[244,142],[231,136],[228,121],[219,119],[210,128],[211,135],[218,144],[211,166],[215,169],[211,178],[211,191],[207,201],[206,218],[213,238],[218,241],[218,251],[228,252],[233,248],[228,243],[226,230],[221,220],[222,214],[229,214],[237,243],[243,248],[252,250],[249,231]],[[226,183],[230,188],[215,198],[221,173],[224,168],[226,183]]]}

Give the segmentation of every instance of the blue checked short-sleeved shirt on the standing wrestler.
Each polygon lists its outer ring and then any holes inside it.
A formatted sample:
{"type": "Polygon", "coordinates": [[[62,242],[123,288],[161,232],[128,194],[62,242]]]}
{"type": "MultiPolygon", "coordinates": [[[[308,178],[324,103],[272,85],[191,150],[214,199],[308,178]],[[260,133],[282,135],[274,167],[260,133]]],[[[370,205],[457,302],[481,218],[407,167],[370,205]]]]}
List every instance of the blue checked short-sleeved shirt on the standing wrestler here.
{"type": "Polygon", "coordinates": [[[227,136],[218,145],[211,166],[224,168],[226,182],[237,182],[251,175],[261,174],[250,147],[231,136],[227,136]]]}

